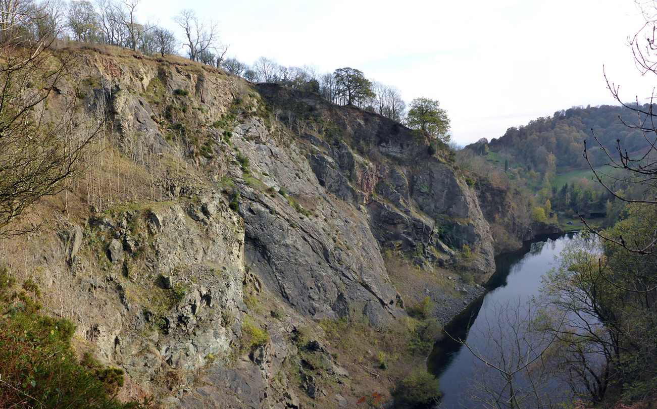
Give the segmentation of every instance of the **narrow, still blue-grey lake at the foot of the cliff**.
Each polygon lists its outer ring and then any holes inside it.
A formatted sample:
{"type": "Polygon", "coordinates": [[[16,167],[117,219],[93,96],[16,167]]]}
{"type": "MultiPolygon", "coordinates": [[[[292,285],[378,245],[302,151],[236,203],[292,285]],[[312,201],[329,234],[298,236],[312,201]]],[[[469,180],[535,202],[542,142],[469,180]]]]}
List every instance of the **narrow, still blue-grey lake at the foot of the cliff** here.
{"type": "Polygon", "coordinates": [[[428,358],[429,372],[440,378],[443,397],[438,407],[482,407],[482,402],[474,402],[470,395],[482,385],[490,385],[490,379],[482,379],[485,364],[454,339],[467,336],[472,349],[489,353],[491,345],[495,345],[494,341],[491,343],[491,335],[499,333],[499,327],[505,325],[499,324],[496,318],[501,306],[518,305],[537,295],[541,276],[555,267],[555,256],[573,238],[574,234],[544,236],[495,259],[497,269],[487,284],[489,291],[445,326],[445,332],[451,337],[438,341],[428,358]]]}

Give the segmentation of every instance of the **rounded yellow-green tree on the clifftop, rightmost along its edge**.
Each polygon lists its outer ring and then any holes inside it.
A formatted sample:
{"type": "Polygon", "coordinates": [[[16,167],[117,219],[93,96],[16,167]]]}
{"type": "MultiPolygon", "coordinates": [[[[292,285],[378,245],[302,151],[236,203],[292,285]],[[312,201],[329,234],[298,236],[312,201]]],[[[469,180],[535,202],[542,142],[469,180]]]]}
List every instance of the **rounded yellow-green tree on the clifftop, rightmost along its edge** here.
{"type": "Polygon", "coordinates": [[[434,139],[449,142],[449,118],[447,112],[440,108],[438,100],[415,98],[409,107],[406,116],[409,128],[419,129],[434,139]]]}

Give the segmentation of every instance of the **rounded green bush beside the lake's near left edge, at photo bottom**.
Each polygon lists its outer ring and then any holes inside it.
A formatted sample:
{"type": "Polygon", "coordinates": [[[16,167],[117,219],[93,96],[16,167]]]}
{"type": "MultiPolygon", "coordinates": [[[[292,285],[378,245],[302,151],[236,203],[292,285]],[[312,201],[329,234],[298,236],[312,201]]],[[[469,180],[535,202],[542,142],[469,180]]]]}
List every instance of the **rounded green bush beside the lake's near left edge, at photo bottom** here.
{"type": "Polygon", "coordinates": [[[433,375],[420,368],[401,379],[394,393],[395,407],[415,408],[438,403],[440,383],[433,375]]]}

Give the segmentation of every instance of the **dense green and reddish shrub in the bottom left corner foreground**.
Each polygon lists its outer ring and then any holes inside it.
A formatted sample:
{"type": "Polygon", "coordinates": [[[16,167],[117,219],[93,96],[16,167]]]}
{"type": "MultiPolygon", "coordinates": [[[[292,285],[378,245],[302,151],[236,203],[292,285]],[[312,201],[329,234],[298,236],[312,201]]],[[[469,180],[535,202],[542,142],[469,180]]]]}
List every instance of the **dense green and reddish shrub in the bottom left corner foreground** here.
{"type": "Polygon", "coordinates": [[[74,325],[39,313],[38,289],[0,269],[0,407],[142,408],[114,398],[123,371],[104,368],[89,354],[78,362],[71,347],[74,325]],[[26,292],[27,291],[27,292],[26,292]]]}

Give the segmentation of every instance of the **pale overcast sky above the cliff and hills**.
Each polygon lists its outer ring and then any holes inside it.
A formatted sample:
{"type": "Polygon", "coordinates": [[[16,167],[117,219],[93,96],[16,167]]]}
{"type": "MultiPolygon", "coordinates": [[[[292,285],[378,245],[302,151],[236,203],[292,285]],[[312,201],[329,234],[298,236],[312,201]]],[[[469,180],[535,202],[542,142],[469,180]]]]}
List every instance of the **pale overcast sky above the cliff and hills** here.
{"type": "MultiPolygon", "coordinates": [[[[643,25],[633,0],[142,0],[171,30],[181,8],[219,23],[229,56],[322,72],[357,68],[403,98],[440,100],[464,144],[576,105],[645,98],[627,37],[643,25]]],[[[180,33],[181,34],[181,33],[180,33]]]]}

